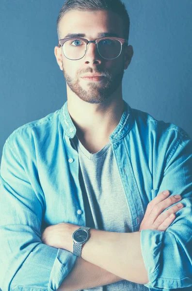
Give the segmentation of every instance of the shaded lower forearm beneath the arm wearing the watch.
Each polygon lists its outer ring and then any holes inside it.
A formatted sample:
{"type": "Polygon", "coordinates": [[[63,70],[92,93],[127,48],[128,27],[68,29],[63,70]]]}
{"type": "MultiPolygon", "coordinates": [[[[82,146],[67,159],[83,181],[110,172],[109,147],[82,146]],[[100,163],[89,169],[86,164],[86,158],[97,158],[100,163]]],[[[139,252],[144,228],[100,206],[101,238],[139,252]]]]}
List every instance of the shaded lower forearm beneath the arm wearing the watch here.
{"type": "Polygon", "coordinates": [[[73,269],[65,277],[57,291],[90,289],[121,280],[123,279],[82,258],[77,258],[73,269]]]}

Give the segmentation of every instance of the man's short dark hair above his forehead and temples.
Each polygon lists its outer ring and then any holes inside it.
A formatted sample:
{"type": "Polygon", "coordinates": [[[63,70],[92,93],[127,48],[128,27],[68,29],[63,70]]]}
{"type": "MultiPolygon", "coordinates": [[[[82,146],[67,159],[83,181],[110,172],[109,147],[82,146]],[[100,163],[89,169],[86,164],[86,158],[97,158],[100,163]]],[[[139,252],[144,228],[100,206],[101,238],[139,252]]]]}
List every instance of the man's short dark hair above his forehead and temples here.
{"type": "Polygon", "coordinates": [[[123,20],[123,34],[128,39],[130,20],[125,4],[121,0],[65,0],[59,16],[57,18],[57,34],[60,38],[59,23],[65,13],[71,10],[92,11],[92,10],[110,10],[123,20]]]}

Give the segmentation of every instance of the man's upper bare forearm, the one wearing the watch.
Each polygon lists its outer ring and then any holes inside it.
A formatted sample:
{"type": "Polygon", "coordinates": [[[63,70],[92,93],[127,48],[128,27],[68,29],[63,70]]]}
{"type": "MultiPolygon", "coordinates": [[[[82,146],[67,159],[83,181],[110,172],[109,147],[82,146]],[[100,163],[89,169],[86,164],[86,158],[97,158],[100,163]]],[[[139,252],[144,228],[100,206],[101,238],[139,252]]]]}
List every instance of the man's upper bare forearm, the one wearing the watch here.
{"type": "MultiPolygon", "coordinates": [[[[56,247],[73,252],[72,233],[79,226],[61,224],[56,247]]],[[[90,229],[90,239],[82,246],[81,258],[125,280],[146,284],[147,272],[141,252],[140,232],[120,233],[90,229]],[[94,250],[94,251],[93,251],[94,250]]]]}

